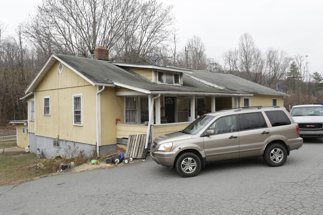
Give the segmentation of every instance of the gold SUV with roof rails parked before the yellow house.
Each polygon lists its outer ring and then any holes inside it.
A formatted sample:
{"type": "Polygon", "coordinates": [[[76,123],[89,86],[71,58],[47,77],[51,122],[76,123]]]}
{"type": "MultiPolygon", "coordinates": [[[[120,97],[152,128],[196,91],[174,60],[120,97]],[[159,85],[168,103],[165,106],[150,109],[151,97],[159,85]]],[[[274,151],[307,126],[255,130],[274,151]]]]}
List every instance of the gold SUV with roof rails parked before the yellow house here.
{"type": "Polygon", "coordinates": [[[213,161],[263,156],[268,165],[281,166],[302,145],[285,108],[257,106],[204,114],[184,130],[155,138],[150,154],[158,164],[192,177],[213,161]]]}

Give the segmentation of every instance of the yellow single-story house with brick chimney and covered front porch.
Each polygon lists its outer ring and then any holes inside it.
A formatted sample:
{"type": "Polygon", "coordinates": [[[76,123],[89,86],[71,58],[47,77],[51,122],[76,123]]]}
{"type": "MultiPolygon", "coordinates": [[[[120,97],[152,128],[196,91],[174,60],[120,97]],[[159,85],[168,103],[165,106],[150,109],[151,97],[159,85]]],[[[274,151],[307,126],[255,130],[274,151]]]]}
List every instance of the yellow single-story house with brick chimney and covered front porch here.
{"type": "Polygon", "coordinates": [[[100,46],[94,53],[94,59],[52,54],[27,87],[21,99],[28,102],[31,152],[54,157],[78,147],[102,156],[124,149],[130,134],[153,139],[206,112],[283,106],[288,96],[227,73],[110,62],[100,46]]]}

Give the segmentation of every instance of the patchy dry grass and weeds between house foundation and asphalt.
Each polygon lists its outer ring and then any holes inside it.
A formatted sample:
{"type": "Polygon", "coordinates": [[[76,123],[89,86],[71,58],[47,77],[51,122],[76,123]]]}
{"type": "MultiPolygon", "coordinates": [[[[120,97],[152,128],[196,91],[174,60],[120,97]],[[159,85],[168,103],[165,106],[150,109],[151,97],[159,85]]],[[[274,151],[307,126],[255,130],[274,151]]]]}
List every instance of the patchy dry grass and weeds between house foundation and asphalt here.
{"type": "MultiPolygon", "coordinates": [[[[122,166],[125,163],[112,164],[107,166],[105,160],[108,157],[114,157],[117,153],[109,154],[105,157],[98,158],[96,149],[87,157],[83,151],[78,151],[78,147],[69,148],[66,156],[57,156],[53,159],[37,158],[34,153],[24,153],[16,155],[1,155],[0,154],[0,186],[17,185],[22,182],[38,179],[42,176],[55,175],[64,171],[60,171],[61,164],[74,162],[76,167],[65,171],[81,172],[90,171],[99,168],[112,168],[122,166]],[[91,160],[99,161],[99,165],[91,164],[91,160]]],[[[135,161],[130,161],[133,163],[135,161]]]]}

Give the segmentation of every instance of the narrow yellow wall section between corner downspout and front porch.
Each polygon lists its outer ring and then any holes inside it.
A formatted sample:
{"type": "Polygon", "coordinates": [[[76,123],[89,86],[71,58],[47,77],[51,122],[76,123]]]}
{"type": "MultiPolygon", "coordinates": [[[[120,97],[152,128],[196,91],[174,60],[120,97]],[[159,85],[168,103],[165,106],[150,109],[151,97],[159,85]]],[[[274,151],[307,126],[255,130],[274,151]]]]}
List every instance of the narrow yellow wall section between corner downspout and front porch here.
{"type": "MultiPolygon", "coordinates": [[[[101,145],[117,143],[116,119],[123,120],[123,96],[115,95],[114,87],[101,92],[101,145]]],[[[118,89],[117,89],[118,90],[118,89]]],[[[120,90],[120,89],[119,89],[120,90]]],[[[128,136],[127,136],[128,138],[128,136]]]]}

